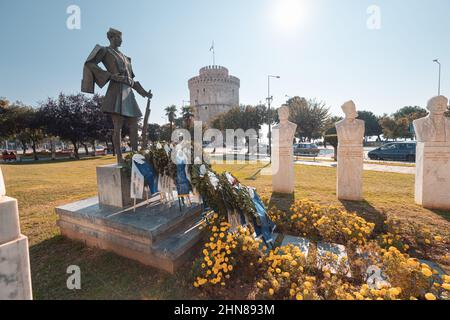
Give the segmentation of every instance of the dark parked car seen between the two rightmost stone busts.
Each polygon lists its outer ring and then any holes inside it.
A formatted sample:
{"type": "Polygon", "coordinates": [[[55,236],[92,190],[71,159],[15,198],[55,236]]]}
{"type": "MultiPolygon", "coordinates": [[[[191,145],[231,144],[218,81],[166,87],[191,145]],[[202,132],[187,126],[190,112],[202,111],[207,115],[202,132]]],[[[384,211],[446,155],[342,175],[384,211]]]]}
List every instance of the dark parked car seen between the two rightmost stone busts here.
{"type": "Polygon", "coordinates": [[[369,152],[371,160],[416,161],[415,142],[392,142],[369,152]]]}

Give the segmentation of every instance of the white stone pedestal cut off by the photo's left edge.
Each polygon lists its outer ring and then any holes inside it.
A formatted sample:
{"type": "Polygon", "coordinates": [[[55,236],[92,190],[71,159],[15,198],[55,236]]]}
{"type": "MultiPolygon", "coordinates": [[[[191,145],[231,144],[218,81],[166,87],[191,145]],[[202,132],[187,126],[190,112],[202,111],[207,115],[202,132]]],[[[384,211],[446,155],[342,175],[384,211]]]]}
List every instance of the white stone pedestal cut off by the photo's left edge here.
{"type": "Polygon", "coordinates": [[[0,300],[31,300],[28,238],[20,234],[17,200],[5,195],[0,169],[0,300]]]}

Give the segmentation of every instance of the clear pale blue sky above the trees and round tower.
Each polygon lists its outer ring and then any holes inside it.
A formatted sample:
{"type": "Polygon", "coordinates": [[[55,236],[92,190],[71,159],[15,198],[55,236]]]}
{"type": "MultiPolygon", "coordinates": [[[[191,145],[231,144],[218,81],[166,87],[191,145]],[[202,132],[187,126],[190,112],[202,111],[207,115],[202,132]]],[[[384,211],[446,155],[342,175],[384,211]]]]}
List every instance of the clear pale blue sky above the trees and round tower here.
{"type": "Polygon", "coordinates": [[[189,99],[187,80],[212,63],[212,40],[245,104],[264,101],[275,74],[275,106],[285,95],[323,100],[333,114],[349,99],[376,114],[423,106],[437,94],[437,57],[450,95],[448,0],[2,0],[0,15],[0,96],[31,105],[78,92],[109,27],[123,32],[136,79],[154,92],[151,122],[189,99]],[[81,9],[80,30],[66,27],[69,5],[81,9]],[[370,5],[381,10],[379,30],[367,27],[370,5]]]}

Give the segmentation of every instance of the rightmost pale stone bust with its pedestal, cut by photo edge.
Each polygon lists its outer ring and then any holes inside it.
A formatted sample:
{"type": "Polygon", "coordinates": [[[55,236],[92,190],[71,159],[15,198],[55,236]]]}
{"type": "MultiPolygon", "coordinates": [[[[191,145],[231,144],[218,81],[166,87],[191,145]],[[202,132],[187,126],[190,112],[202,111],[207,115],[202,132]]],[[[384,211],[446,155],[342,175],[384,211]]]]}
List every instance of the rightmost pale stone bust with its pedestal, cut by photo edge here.
{"type": "Polygon", "coordinates": [[[450,210],[450,118],[444,116],[448,99],[432,98],[430,114],[414,121],[417,138],[417,204],[430,209],[450,210]]]}

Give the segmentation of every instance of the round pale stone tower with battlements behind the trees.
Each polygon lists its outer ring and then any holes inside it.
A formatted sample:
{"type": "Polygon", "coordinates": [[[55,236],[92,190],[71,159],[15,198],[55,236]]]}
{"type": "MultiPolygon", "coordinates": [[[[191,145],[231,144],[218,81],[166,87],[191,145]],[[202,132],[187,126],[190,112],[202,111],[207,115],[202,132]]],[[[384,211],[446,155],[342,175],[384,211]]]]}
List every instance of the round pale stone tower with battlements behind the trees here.
{"type": "Polygon", "coordinates": [[[195,120],[211,124],[220,114],[239,106],[240,80],[228,69],[208,66],[188,82],[195,120]]]}

